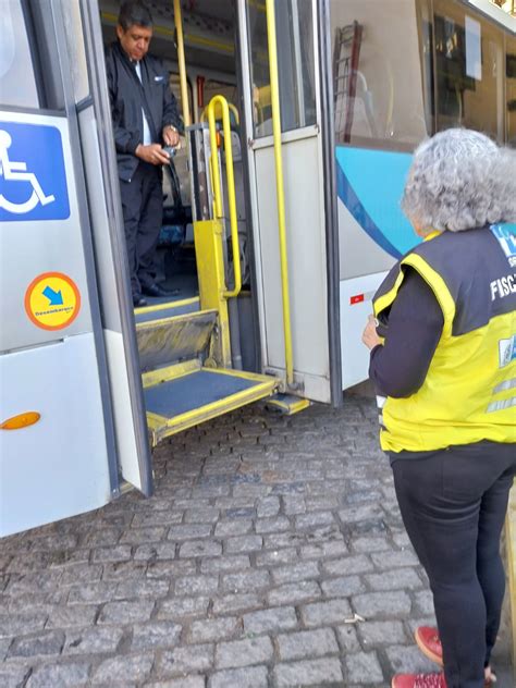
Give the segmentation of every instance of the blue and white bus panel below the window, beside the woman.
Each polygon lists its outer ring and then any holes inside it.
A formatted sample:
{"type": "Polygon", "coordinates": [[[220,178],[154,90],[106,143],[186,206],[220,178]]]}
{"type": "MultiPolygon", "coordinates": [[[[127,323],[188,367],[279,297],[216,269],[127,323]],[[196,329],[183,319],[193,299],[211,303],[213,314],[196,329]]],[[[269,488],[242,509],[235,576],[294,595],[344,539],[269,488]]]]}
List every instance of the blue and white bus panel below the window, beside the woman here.
{"type": "Polygon", "coordinates": [[[360,333],[371,299],[394,261],[418,243],[400,208],[411,156],[337,146],[342,386],[368,376],[360,333]]]}

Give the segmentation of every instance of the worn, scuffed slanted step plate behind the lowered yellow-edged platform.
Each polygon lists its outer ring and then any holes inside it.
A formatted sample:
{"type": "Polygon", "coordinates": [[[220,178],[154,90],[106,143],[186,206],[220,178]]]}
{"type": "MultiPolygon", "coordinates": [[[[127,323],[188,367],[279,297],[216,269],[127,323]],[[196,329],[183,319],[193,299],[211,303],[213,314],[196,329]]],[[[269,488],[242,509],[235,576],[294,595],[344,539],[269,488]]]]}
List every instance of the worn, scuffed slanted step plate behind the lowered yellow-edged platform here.
{"type": "Polygon", "coordinates": [[[217,310],[198,310],[136,323],[142,371],[198,357],[206,351],[217,310]]]}

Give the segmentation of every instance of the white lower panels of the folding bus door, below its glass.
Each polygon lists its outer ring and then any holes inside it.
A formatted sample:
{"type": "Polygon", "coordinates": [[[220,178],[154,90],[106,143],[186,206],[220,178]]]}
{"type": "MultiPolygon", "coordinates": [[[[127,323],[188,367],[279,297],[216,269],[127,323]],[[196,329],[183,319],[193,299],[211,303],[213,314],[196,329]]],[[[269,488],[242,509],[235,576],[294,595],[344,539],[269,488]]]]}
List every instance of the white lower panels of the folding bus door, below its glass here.
{"type": "MultiPolygon", "coordinates": [[[[300,374],[329,374],[325,246],[322,198],[319,194],[319,140],[304,138],[283,145],[288,285],[291,293],[294,369],[300,374]]],[[[274,179],[274,149],[255,152],[267,366],[284,368],[281,271],[274,179]],[[272,188],[271,188],[272,186],[272,188]],[[272,192],[272,193],[271,193],[272,192]]]]}

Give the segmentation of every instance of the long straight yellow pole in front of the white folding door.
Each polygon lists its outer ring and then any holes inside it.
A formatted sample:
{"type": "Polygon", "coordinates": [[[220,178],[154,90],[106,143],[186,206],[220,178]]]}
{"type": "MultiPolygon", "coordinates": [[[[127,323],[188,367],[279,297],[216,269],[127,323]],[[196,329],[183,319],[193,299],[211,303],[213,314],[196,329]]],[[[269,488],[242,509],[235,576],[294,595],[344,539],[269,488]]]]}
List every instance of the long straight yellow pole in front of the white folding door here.
{"type": "Polygon", "coordinates": [[[274,137],[275,187],[278,197],[278,225],[280,233],[281,291],[283,296],[283,335],[285,340],[286,383],[294,382],[292,356],[291,297],[288,292],[288,261],[286,254],[285,194],[283,161],[281,157],[281,110],[278,79],[278,51],[275,37],[274,0],[266,0],[267,38],[269,42],[269,71],[271,79],[272,134],[274,137]]]}

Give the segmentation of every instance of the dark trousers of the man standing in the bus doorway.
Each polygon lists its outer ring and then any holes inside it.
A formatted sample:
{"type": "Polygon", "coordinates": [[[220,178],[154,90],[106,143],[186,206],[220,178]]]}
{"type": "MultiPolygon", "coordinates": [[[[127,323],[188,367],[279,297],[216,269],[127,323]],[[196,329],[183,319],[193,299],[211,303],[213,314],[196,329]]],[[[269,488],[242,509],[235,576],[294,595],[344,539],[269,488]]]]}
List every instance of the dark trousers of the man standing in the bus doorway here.
{"type": "Polygon", "coordinates": [[[136,168],[131,182],[120,180],[125,243],[133,295],[156,280],[155,256],[163,219],[161,169],[146,162],[136,168]]]}

